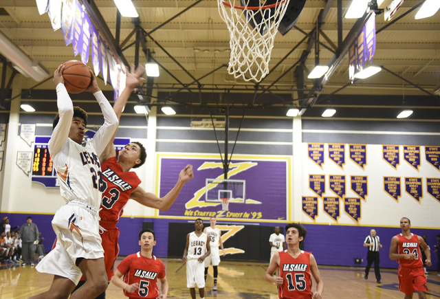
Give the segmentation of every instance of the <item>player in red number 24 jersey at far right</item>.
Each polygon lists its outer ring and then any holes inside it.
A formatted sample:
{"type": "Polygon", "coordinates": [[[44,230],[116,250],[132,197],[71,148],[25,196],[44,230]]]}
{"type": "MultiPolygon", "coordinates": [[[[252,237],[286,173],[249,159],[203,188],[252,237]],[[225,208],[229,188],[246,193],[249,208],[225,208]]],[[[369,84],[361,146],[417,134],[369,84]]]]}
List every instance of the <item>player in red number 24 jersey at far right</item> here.
{"type": "Polygon", "coordinates": [[[401,234],[391,239],[390,258],[399,263],[399,290],[405,294],[405,299],[411,299],[417,291],[419,299],[426,299],[426,276],[421,261],[419,245],[425,250],[426,265],[431,264],[431,252],[421,236],[411,234],[411,221],[404,217],[400,219],[401,234]]]}

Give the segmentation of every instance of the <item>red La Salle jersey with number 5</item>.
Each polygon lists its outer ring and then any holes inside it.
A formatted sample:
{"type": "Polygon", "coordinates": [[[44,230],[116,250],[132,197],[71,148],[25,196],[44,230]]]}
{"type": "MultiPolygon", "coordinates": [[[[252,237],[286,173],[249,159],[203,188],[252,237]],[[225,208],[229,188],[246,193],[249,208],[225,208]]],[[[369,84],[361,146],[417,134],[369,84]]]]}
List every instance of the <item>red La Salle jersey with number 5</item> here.
{"type": "Polygon", "coordinates": [[[157,298],[159,291],[157,288],[157,278],[165,277],[165,265],[159,258],[146,258],[140,252],[131,254],[124,258],[118,265],[118,270],[124,274],[124,283],[133,285],[139,284],[139,289],[134,293],[124,295],[130,298],[157,298]]]}

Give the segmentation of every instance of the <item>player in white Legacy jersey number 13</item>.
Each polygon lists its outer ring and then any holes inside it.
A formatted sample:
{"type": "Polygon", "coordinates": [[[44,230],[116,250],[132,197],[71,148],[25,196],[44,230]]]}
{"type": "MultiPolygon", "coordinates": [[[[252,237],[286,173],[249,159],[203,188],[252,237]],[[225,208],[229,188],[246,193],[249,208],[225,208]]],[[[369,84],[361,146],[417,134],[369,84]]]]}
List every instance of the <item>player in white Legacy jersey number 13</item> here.
{"type": "Polygon", "coordinates": [[[195,232],[186,235],[184,257],[186,263],[186,287],[190,289],[191,298],[195,299],[195,287],[199,288],[200,299],[205,298],[205,280],[203,279],[203,261],[211,253],[208,236],[203,230],[203,220],[195,220],[195,232]]]}

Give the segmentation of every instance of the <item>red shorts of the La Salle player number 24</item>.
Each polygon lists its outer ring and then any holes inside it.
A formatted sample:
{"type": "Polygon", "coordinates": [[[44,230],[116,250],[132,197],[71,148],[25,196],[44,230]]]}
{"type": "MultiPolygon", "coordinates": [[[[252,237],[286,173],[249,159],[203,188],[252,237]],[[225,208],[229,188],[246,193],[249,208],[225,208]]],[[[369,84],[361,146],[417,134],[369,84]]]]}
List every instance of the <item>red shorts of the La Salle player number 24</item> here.
{"type": "Polygon", "coordinates": [[[423,267],[410,268],[399,265],[399,290],[405,295],[412,295],[415,291],[428,291],[426,276],[423,267]]]}

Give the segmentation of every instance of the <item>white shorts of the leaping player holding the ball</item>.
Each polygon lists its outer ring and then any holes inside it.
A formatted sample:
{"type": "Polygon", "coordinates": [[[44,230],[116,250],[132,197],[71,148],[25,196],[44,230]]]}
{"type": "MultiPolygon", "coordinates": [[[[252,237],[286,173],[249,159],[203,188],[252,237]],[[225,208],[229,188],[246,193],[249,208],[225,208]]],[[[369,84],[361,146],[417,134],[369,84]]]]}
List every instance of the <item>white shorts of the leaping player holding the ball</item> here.
{"type": "Polygon", "coordinates": [[[56,211],[52,228],[56,234],[56,246],[36,270],[68,278],[77,285],[83,274],[75,265],[76,258],[104,258],[98,210],[83,201],[70,201],[56,211]]]}

